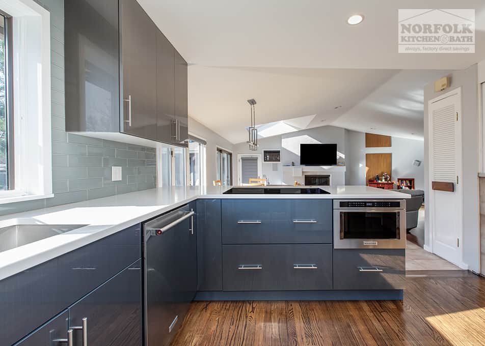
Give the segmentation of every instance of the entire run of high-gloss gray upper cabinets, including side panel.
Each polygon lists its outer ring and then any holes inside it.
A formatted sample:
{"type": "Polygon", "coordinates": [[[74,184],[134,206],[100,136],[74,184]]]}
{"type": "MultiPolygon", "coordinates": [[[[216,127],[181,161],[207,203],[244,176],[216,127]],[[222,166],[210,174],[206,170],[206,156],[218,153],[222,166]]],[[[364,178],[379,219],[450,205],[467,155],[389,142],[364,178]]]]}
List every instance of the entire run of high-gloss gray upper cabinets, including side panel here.
{"type": "Polygon", "coordinates": [[[187,64],[137,0],[64,6],[66,131],[185,147],[187,64]]]}

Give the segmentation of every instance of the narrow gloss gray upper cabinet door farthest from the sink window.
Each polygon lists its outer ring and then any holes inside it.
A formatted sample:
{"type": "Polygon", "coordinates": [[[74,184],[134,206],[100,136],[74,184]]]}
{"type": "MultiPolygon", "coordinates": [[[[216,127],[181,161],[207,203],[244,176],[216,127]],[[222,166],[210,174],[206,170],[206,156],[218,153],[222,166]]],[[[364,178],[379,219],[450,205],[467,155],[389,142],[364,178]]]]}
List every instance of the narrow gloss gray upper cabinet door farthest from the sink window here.
{"type": "Polygon", "coordinates": [[[188,139],[188,85],[187,62],[175,51],[175,120],[177,121],[176,142],[188,139]]]}

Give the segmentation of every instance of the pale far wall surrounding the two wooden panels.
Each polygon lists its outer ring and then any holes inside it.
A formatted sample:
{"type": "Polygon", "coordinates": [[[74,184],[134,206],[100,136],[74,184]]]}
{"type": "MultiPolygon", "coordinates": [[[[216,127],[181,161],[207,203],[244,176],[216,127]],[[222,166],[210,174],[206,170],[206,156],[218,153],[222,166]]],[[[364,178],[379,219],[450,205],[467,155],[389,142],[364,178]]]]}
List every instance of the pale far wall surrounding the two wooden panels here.
{"type": "Polygon", "coordinates": [[[415,188],[424,189],[424,141],[392,137],[389,148],[365,148],[365,133],[346,130],[345,172],[346,185],[365,185],[365,154],[391,153],[392,180],[397,178],[414,178],[415,188]],[[414,166],[414,160],[421,161],[414,166]]]}

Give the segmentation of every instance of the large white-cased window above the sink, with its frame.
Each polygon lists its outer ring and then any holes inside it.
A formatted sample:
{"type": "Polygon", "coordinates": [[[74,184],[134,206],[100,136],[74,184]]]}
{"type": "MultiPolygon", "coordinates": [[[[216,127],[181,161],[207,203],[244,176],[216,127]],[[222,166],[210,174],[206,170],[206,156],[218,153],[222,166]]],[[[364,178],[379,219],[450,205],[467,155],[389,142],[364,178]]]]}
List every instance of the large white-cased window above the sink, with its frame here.
{"type": "Polygon", "coordinates": [[[50,13],[0,7],[0,204],[53,197],[50,13]]]}

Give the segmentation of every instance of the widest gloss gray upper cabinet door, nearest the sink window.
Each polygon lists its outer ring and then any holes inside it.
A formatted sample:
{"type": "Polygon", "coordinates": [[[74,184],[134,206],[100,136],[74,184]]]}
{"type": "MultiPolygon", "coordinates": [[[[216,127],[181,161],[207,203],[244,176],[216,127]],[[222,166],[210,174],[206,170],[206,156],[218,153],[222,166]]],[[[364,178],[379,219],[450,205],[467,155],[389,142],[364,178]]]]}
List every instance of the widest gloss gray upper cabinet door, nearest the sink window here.
{"type": "Polygon", "coordinates": [[[155,139],[157,28],[135,0],[121,0],[122,132],[155,139]]]}

